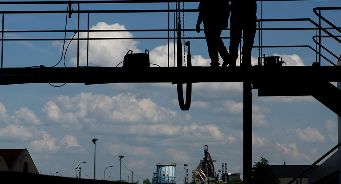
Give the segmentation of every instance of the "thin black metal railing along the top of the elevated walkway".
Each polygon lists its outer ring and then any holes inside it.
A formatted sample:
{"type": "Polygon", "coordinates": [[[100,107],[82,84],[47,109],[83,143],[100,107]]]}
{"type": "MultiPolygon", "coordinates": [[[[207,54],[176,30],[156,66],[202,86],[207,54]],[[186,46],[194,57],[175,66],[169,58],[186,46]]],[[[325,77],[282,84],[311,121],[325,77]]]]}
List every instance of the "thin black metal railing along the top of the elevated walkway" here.
{"type": "MultiPolygon", "coordinates": [[[[266,1],[272,1],[272,0],[266,0],[266,1]]],[[[290,1],[290,0],[287,0],[290,1]]],[[[197,12],[197,9],[184,9],[184,10],[177,10],[177,9],[170,9],[169,8],[169,3],[174,3],[177,1],[155,1],[155,0],[118,0],[118,1],[20,1],[20,2],[0,2],[0,4],[4,5],[42,5],[42,4],[65,4],[68,5],[68,10],[23,10],[23,11],[0,11],[0,14],[2,14],[2,30],[1,30],[1,68],[3,67],[3,55],[4,51],[3,48],[4,42],[7,41],[71,41],[71,40],[77,40],[77,67],[79,67],[79,41],[80,40],[115,40],[115,39],[136,39],[136,40],[168,40],[168,46],[169,46],[169,40],[174,40],[176,39],[175,32],[177,31],[176,26],[174,25],[173,29],[170,29],[170,22],[173,20],[170,20],[170,13],[176,13],[176,12],[197,12]],[[168,9],[158,9],[158,10],[80,10],[80,4],[103,4],[103,3],[168,3],[168,9]],[[78,5],[77,10],[73,10],[71,8],[72,4],[78,5]],[[168,29],[129,29],[129,30],[89,30],[89,14],[105,14],[105,13],[168,13],[168,29]],[[77,15],[78,17],[78,22],[77,22],[77,29],[74,30],[4,30],[4,25],[5,25],[5,15],[6,14],[69,14],[69,17],[73,15],[77,15]],[[88,15],[88,29],[80,29],[79,24],[80,24],[80,14],[87,14],[88,15]],[[119,37],[119,38],[80,38],[79,33],[86,32],[89,34],[89,32],[168,32],[168,37],[119,37]],[[77,34],[77,38],[4,38],[5,34],[7,33],[62,33],[62,32],[75,32],[77,34]],[[170,36],[170,32],[174,32],[174,36],[170,36]]],[[[198,2],[198,0],[186,0],[184,2],[198,2]]],[[[261,1],[262,3],[262,1],[261,1]]],[[[322,36],[321,31],[325,32],[328,34],[329,37],[334,38],[337,40],[339,43],[341,43],[341,40],[338,38],[340,36],[335,36],[332,35],[328,30],[337,30],[341,33],[341,29],[333,25],[331,22],[329,22],[327,19],[321,16],[321,10],[340,10],[340,7],[332,7],[332,8],[315,8],[314,13],[319,16],[319,20],[323,20],[327,22],[331,27],[328,28],[323,28],[321,26],[321,21],[319,23],[314,22],[310,18],[296,18],[296,19],[259,19],[258,20],[258,46],[254,46],[254,48],[258,48],[258,57],[262,56],[262,49],[263,48],[309,48],[312,50],[314,53],[318,55],[318,62],[321,64],[321,57],[324,58],[327,62],[329,62],[332,65],[334,64],[331,60],[329,60],[326,56],[324,56],[321,53],[321,49],[326,50],[329,54],[331,54],[335,58],[339,58],[336,54],[333,54],[330,52],[326,47],[324,47],[321,44],[321,38],[327,37],[327,36],[322,36]],[[317,13],[317,10],[320,11],[320,13],[317,13]],[[289,21],[309,21],[310,23],[315,26],[315,28],[263,28],[262,23],[263,22],[289,22],[289,21]],[[262,43],[262,38],[264,35],[262,34],[262,31],[288,31],[288,30],[293,30],[293,31],[299,31],[299,30],[315,30],[318,31],[318,35],[312,35],[312,38],[316,45],[318,45],[318,48],[313,48],[309,44],[307,45],[278,45],[278,46],[268,46],[268,45],[263,45],[262,43]],[[318,39],[318,41],[316,40],[318,39]]],[[[262,6],[261,6],[261,11],[262,11],[262,6]]],[[[175,20],[174,20],[175,24],[175,20]]],[[[229,29],[226,29],[229,31],[229,29]]],[[[182,29],[181,31],[184,32],[192,32],[195,31],[195,29],[182,29]]],[[[204,37],[181,37],[181,39],[204,39],[204,37]]],[[[229,39],[229,37],[222,37],[224,39],[229,39]]],[[[169,52],[169,49],[168,49],[169,52]]],[[[168,53],[169,55],[169,53],[168,53]]],[[[175,57],[174,57],[175,58],[175,57]]],[[[169,57],[168,57],[169,60],[169,57]]],[[[175,65],[175,62],[174,62],[175,65]]],[[[170,61],[168,61],[168,66],[170,66],[170,61]]],[[[88,61],[87,61],[87,67],[88,67],[88,61]]]]}

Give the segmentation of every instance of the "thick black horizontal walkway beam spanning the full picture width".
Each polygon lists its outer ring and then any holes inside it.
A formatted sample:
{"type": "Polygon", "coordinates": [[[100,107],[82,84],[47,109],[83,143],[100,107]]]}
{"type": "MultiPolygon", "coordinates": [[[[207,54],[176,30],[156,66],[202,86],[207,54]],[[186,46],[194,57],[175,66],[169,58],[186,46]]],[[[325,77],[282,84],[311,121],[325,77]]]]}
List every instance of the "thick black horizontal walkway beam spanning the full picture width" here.
{"type": "Polygon", "coordinates": [[[1,68],[0,85],[341,81],[341,66],[1,68]]]}

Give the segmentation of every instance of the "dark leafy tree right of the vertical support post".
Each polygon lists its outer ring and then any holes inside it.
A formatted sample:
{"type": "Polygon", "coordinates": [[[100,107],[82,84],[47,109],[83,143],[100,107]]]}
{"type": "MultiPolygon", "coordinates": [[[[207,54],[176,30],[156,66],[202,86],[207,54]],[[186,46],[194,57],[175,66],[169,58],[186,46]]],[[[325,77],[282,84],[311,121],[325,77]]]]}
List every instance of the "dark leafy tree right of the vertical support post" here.
{"type": "Polygon", "coordinates": [[[268,161],[261,157],[261,162],[255,162],[252,167],[252,184],[280,184],[278,176],[273,172],[273,168],[268,161]]]}

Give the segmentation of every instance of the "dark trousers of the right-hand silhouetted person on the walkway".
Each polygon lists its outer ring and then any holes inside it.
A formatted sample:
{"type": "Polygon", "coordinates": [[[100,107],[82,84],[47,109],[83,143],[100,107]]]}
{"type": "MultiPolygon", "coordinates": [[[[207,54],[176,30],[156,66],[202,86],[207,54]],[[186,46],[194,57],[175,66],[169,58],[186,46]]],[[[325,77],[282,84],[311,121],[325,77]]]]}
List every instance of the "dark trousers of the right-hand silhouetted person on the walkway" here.
{"type": "Polygon", "coordinates": [[[243,47],[241,49],[242,65],[251,66],[251,50],[253,40],[256,35],[257,17],[242,17],[240,15],[234,16],[231,14],[230,18],[230,63],[235,64],[238,58],[238,46],[241,41],[241,34],[243,33],[243,47]]]}

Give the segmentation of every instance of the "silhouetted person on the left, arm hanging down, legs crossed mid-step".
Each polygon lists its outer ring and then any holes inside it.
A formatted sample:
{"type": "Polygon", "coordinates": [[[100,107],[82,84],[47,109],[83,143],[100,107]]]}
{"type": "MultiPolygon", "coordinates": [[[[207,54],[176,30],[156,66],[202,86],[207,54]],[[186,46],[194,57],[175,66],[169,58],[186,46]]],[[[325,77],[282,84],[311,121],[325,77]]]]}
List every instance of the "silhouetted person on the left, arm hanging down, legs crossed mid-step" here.
{"type": "Polygon", "coordinates": [[[200,24],[204,22],[204,33],[206,36],[208,55],[211,58],[211,66],[219,66],[219,55],[224,62],[228,62],[229,54],[224,46],[220,34],[227,28],[230,16],[230,5],[227,0],[201,0],[199,16],[196,23],[196,32],[200,32],[200,24]]]}

